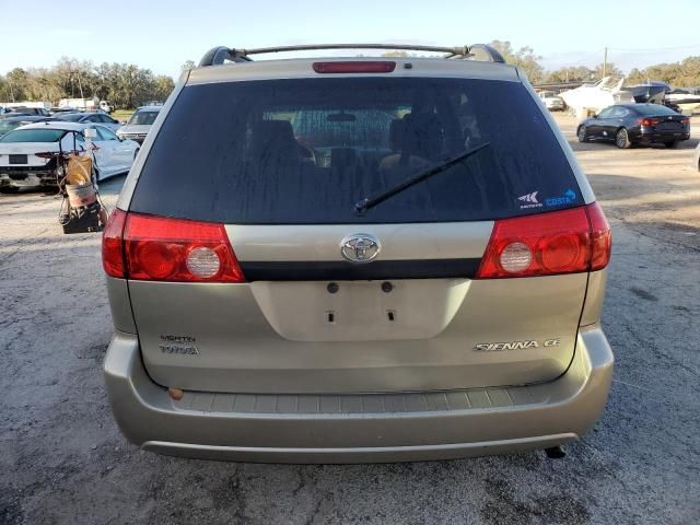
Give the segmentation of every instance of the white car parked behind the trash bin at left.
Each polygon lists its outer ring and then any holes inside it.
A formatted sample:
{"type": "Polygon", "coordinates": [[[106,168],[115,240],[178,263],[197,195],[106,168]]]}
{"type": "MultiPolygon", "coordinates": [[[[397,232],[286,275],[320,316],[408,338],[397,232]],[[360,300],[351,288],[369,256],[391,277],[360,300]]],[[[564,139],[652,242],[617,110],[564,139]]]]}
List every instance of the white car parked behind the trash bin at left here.
{"type": "Polygon", "coordinates": [[[89,127],[97,132],[92,141],[97,180],[128,172],[139,144],[119,139],[103,126],[60,120],[30,124],[0,137],[0,189],[56,185],[52,153],[85,151],[89,127]]]}

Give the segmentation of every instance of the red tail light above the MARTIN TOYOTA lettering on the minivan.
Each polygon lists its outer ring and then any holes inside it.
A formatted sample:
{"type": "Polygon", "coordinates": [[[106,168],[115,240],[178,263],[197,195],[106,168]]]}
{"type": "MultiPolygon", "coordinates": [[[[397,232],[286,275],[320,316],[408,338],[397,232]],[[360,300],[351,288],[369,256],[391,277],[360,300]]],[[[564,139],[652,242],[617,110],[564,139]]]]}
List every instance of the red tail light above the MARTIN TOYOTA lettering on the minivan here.
{"type": "Polygon", "coordinates": [[[244,282],[223,224],[113,213],[103,236],[112,277],[147,281],[244,282]]]}

